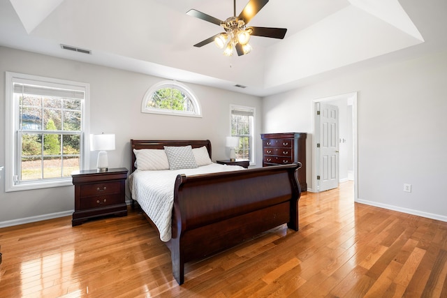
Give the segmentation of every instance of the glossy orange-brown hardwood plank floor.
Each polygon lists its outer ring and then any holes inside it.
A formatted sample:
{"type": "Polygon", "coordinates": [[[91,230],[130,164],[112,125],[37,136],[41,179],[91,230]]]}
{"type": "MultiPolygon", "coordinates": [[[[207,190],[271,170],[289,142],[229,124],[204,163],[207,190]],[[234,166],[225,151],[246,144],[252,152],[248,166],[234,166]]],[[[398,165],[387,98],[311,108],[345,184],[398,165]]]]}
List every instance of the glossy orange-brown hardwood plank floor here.
{"type": "Polygon", "coordinates": [[[138,211],[0,229],[0,297],[447,297],[447,223],[353,203],[353,186],[305,193],[281,226],[206,260],[185,283],[138,211]]]}

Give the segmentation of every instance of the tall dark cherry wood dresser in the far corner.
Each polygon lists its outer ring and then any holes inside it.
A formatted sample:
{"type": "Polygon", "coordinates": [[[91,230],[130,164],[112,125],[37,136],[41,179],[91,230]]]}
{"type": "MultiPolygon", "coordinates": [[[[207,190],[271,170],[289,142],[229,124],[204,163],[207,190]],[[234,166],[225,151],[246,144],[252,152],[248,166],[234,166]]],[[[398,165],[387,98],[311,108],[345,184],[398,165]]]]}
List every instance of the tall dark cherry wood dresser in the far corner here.
{"type": "Polygon", "coordinates": [[[307,191],[306,183],[307,133],[263,133],[263,167],[301,163],[298,181],[301,191],[307,191]]]}

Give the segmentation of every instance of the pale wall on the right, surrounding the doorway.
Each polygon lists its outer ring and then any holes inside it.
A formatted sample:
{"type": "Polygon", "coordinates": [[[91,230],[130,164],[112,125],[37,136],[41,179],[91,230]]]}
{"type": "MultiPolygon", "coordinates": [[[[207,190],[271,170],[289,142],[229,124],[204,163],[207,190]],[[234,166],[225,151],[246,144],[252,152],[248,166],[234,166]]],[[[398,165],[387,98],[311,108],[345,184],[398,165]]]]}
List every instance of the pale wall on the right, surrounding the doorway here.
{"type": "Polygon", "coordinates": [[[358,202],[447,221],[446,77],[439,52],[268,96],[263,132],[312,134],[312,100],[358,91],[358,202]]]}

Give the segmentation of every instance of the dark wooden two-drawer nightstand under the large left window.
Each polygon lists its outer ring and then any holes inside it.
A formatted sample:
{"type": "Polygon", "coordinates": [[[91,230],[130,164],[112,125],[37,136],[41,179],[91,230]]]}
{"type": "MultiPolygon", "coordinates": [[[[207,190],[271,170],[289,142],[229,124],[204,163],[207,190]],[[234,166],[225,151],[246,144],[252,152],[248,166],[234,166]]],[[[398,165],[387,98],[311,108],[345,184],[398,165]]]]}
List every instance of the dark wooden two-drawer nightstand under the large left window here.
{"type": "Polygon", "coordinates": [[[71,225],[81,225],[97,216],[126,216],[127,172],[125,167],[109,169],[107,172],[73,172],[71,177],[75,185],[75,211],[71,225]]]}

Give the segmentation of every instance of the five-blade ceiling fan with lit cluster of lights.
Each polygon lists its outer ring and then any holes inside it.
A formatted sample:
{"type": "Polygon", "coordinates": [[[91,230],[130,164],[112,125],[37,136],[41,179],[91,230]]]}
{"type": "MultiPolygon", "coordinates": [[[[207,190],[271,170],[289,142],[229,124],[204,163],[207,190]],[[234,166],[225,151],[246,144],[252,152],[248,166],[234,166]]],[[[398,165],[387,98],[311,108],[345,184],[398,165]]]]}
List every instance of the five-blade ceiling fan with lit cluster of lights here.
{"type": "Polygon", "coordinates": [[[236,0],[234,0],[233,10],[234,16],[228,17],[225,21],[221,21],[216,17],[207,15],[198,10],[191,9],[186,14],[191,17],[198,17],[201,20],[217,24],[223,27],[224,33],[217,33],[210,38],[207,38],[194,47],[202,47],[214,40],[214,43],[220,49],[225,48],[223,54],[226,56],[233,55],[233,47],[236,49],[237,55],[242,56],[251,52],[251,45],[249,45],[250,36],[264,36],[270,38],[283,39],[286,35],[287,29],[284,28],[270,28],[270,27],[247,27],[250,20],[261,10],[269,0],[250,0],[247,6],[244,7],[240,15],[236,16],[236,0]]]}

